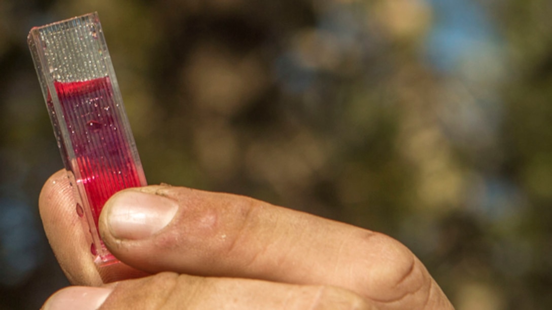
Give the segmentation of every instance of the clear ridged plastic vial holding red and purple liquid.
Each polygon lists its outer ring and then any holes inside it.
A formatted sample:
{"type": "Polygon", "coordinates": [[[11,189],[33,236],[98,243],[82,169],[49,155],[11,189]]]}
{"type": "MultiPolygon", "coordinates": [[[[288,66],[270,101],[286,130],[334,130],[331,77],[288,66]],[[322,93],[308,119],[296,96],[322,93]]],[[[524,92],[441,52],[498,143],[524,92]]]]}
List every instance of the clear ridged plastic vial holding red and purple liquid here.
{"type": "Polygon", "coordinates": [[[146,178],[97,13],[31,29],[28,43],[57,145],[99,266],[118,260],[98,234],[105,201],[146,178]]]}

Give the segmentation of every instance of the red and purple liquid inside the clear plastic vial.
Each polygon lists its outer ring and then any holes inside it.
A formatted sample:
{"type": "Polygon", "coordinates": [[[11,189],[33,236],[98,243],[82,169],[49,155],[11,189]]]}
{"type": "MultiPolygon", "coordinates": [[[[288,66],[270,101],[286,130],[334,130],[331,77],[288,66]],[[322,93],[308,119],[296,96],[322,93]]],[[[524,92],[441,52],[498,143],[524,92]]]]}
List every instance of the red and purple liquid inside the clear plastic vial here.
{"type": "MultiPolygon", "coordinates": [[[[76,163],[69,158],[64,161],[86,191],[97,229],[109,197],[119,190],[145,185],[140,183],[143,172],[141,166],[136,168],[108,77],[54,85],[75,150],[76,163]]],[[[67,156],[63,147],[61,152],[67,156]]]]}

